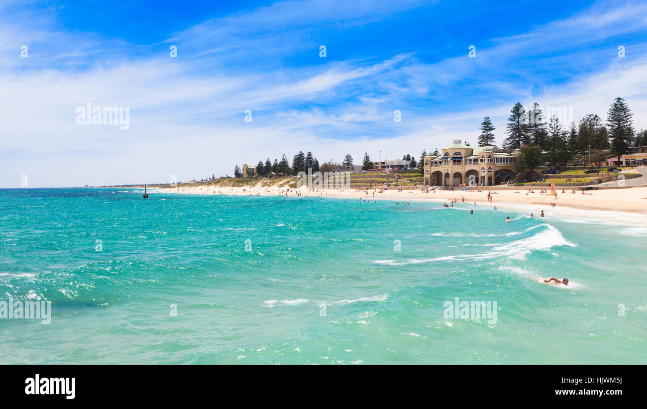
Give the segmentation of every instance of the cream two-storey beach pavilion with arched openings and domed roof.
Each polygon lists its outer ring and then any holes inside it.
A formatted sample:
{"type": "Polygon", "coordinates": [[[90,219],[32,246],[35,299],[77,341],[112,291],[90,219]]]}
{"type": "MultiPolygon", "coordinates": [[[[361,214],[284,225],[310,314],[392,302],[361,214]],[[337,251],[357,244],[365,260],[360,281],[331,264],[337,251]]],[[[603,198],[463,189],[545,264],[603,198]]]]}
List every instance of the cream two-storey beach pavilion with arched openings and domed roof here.
{"type": "Polygon", "coordinates": [[[498,146],[472,147],[454,142],[443,149],[441,156],[424,157],[424,184],[431,186],[459,186],[474,181],[476,186],[491,186],[512,179],[514,164],[520,149],[506,153],[498,146]]]}

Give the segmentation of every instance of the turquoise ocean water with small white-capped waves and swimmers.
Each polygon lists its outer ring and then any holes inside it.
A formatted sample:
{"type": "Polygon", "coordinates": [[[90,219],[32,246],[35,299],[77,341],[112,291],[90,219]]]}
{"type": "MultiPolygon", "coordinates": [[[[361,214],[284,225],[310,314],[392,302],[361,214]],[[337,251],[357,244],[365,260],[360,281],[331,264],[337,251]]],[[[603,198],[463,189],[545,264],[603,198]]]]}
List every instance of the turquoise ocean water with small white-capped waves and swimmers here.
{"type": "Polygon", "coordinates": [[[644,216],[552,213],[0,190],[0,363],[647,363],[644,216]]]}

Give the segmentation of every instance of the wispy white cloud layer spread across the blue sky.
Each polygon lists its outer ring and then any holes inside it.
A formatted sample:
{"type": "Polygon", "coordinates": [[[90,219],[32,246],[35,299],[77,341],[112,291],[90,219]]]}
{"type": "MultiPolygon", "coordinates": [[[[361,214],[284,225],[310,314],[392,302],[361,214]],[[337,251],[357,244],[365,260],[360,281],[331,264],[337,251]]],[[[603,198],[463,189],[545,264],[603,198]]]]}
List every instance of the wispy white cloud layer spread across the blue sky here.
{"type": "MultiPolygon", "coordinates": [[[[43,17],[30,26],[34,30],[25,32],[16,25],[0,25],[0,47],[6,39],[15,54],[0,48],[0,65],[6,68],[0,74],[0,186],[19,186],[22,174],[29,176],[33,187],[167,182],[171,174],[186,180],[231,174],[235,164],[280,159],[282,153],[292,159],[299,150],[311,150],[320,161],[341,161],[351,153],[359,162],[364,151],[378,159],[380,150],[382,158],[406,153],[418,157],[423,148],[443,148],[454,138],[474,144],[486,115],[498,128],[500,143],[510,108],[518,100],[525,106],[535,101],[542,106],[573,106],[577,121],[587,113],[606,117],[611,100],[623,96],[635,113],[635,126],[647,127],[642,115],[647,110],[646,45],[635,41],[626,59],[613,53],[602,56],[599,49],[573,50],[574,45],[591,41],[584,31],[589,25],[595,28],[595,38],[644,32],[639,27],[644,17],[622,23],[631,14],[628,8],[595,9],[497,39],[493,47],[477,50],[476,59],[468,59],[465,50],[465,56],[438,63],[423,63],[416,50],[408,50],[387,58],[298,67],[270,68],[258,61],[237,71],[226,66],[230,60],[213,60],[204,52],[209,48],[199,50],[221,34],[227,41],[235,38],[244,32],[239,27],[258,21],[274,21],[292,35],[322,22],[377,21],[402,7],[365,6],[341,2],[338,10],[315,8],[320,11],[312,14],[292,3],[276,3],[175,35],[171,41],[193,47],[193,59],[171,59],[168,53],[143,59],[120,55],[114,60],[91,58],[82,68],[70,67],[79,63],[79,55],[101,53],[102,41],[58,32],[43,17]],[[20,61],[19,49],[14,49],[21,38],[52,49],[42,60],[20,61]],[[569,40],[560,43],[564,38],[569,40]],[[56,41],[74,47],[63,50],[56,41]],[[533,43],[538,47],[524,56],[523,50],[533,43]],[[564,57],[546,54],[551,49],[564,50],[564,57]],[[549,77],[543,83],[532,78],[533,82],[523,79],[529,75],[524,63],[530,58],[541,59],[547,67],[570,70],[579,64],[586,69],[573,71],[570,77],[559,73],[567,79],[558,85],[551,85],[549,77]],[[203,62],[208,68],[196,69],[204,68],[203,62]],[[88,102],[130,107],[130,129],[76,125],[76,107],[88,102]],[[246,109],[252,109],[252,123],[243,120],[246,109]],[[395,109],[402,111],[401,123],[393,122],[395,109]]],[[[417,3],[411,2],[398,10],[414,6],[417,3]]],[[[253,47],[276,47],[270,34],[253,47]]],[[[217,53],[225,55],[239,47],[225,40],[215,47],[217,53]]],[[[301,41],[296,36],[294,44],[301,41]]],[[[30,49],[32,55],[38,53],[30,49]]]]}

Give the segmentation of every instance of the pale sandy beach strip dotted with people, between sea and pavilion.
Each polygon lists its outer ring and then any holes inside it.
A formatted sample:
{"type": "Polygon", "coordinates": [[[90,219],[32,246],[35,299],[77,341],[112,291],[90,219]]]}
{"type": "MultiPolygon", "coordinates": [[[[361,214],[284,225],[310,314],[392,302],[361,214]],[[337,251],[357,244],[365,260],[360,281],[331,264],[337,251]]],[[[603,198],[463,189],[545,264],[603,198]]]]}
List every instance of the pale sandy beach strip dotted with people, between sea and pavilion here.
{"type": "Polygon", "coordinates": [[[276,188],[276,187],[261,187],[261,186],[245,186],[245,187],[214,187],[214,186],[195,186],[195,187],[182,187],[182,188],[163,188],[158,189],[159,192],[165,193],[183,193],[183,194],[199,194],[199,195],[282,195],[287,197],[302,196],[302,197],[329,197],[340,199],[370,199],[370,200],[390,200],[402,201],[404,203],[411,201],[450,201],[463,202],[465,198],[466,203],[476,203],[477,206],[514,206],[522,205],[523,208],[539,214],[541,210],[547,212],[553,208],[552,203],[555,204],[554,208],[575,208],[581,210],[602,210],[613,212],[634,212],[638,214],[647,214],[647,187],[631,187],[622,189],[598,189],[587,190],[584,194],[582,190],[575,190],[571,193],[572,189],[557,188],[557,198],[551,195],[550,189],[547,193],[540,193],[541,188],[518,188],[518,189],[487,189],[487,188],[472,188],[471,190],[462,190],[462,188],[455,188],[455,190],[437,190],[429,193],[422,192],[422,190],[402,190],[397,188],[389,188],[381,193],[369,190],[367,193],[364,190],[312,190],[307,188],[290,189],[290,188],[276,188]],[[492,193],[492,202],[488,203],[488,192],[492,193]],[[562,193],[565,192],[565,193],[562,193]],[[535,210],[536,208],[536,210],[535,210]]]}

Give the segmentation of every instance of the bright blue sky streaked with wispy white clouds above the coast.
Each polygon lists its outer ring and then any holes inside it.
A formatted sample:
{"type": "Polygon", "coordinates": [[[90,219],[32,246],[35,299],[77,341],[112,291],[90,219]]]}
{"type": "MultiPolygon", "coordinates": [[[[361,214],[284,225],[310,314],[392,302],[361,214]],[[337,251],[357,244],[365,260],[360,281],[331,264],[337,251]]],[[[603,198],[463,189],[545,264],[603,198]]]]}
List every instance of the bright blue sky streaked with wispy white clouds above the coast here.
{"type": "Polygon", "coordinates": [[[186,181],[299,150],[417,157],[476,143],[485,115],[501,142],[515,102],[577,122],[622,96],[647,127],[647,4],[0,1],[0,81],[5,188],[186,181]],[[88,103],[129,107],[129,129],[76,124],[88,103]]]}

